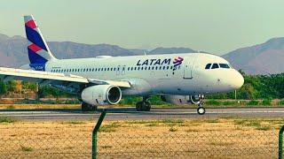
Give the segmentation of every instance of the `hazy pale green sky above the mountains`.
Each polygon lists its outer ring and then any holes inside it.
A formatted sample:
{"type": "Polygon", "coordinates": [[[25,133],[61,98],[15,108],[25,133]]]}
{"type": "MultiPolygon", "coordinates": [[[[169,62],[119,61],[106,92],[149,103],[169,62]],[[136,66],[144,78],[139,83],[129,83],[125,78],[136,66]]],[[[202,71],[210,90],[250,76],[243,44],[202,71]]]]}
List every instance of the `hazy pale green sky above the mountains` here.
{"type": "Polygon", "coordinates": [[[1,0],[0,34],[25,36],[26,14],[47,41],[128,49],[189,47],[222,55],[284,36],[283,0],[1,0]]]}

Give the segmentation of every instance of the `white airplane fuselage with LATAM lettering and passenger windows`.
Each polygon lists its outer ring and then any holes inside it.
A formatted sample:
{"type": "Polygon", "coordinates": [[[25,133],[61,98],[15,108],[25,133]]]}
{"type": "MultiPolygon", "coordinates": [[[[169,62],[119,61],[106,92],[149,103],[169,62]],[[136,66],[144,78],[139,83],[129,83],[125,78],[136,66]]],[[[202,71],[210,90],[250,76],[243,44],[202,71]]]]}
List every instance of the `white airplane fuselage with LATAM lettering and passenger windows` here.
{"type": "Polygon", "coordinates": [[[229,64],[222,57],[203,53],[102,56],[49,61],[45,71],[130,81],[131,88],[122,90],[123,95],[204,95],[241,87],[243,78],[233,68],[205,69],[214,63],[229,64]],[[174,66],[175,62],[179,65],[174,66]]]}

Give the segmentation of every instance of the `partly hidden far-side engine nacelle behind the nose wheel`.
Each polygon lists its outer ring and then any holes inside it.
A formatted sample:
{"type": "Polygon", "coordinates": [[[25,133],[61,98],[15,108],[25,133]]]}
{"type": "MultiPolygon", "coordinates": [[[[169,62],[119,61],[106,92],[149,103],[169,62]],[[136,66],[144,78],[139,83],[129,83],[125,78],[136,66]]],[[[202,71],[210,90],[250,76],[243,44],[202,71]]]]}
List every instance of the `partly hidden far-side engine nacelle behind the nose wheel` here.
{"type": "Polygon", "coordinates": [[[198,95],[162,95],[161,99],[163,102],[169,102],[175,105],[186,105],[186,104],[199,104],[200,98],[198,95]]]}

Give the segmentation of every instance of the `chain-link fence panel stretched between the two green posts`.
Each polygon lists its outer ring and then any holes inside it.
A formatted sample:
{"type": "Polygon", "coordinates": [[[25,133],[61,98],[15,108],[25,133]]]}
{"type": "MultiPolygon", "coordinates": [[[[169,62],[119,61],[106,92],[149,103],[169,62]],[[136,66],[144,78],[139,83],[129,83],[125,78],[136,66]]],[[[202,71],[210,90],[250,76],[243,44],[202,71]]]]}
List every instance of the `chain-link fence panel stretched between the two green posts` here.
{"type": "Polygon", "coordinates": [[[277,158],[277,133],[168,133],[99,135],[102,158],[277,158]]]}

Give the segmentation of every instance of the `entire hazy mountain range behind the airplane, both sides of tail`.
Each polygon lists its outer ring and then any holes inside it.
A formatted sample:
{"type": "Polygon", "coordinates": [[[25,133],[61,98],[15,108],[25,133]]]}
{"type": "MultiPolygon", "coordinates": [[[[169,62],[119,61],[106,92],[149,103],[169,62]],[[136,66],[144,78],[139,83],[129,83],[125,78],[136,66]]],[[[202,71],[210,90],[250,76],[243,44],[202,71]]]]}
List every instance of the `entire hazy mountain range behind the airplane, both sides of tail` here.
{"type": "MultiPolygon", "coordinates": [[[[83,44],[76,42],[48,42],[55,57],[79,58],[105,56],[135,56],[197,52],[190,48],[124,49],[110,44],[83,44]]],[[[28,41],[22,36],[9,37],[0,34],[0,66],[19,67],[28,64],[28,41]]],[[[204,52],[204,51],[202,51],[204,52]]],[[[234,68],[248,74],[269,74],[284,72],[284,38],[273,38],[262,44],[235,49],[226,53],[234,68]]]]}

